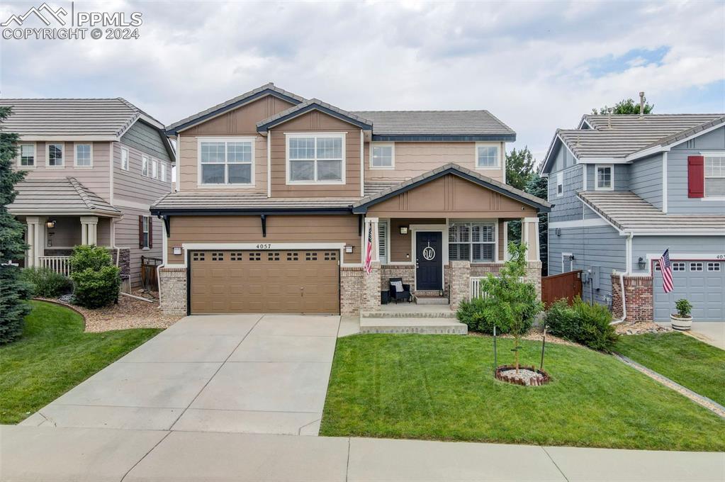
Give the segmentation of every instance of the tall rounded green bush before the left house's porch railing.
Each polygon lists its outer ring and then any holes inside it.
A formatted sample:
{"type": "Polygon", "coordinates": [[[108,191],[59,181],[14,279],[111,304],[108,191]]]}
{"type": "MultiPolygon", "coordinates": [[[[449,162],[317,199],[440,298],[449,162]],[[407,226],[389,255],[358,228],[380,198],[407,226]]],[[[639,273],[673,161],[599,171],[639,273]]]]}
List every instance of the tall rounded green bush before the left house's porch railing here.
{"type": "Polygon", "coordinates": [[[120,270],[112,265],[110,254],[97,246],[75,246],[70,258],[75,285],[75,302],[86,308],[100,308],[118,299],[120,270]]]}

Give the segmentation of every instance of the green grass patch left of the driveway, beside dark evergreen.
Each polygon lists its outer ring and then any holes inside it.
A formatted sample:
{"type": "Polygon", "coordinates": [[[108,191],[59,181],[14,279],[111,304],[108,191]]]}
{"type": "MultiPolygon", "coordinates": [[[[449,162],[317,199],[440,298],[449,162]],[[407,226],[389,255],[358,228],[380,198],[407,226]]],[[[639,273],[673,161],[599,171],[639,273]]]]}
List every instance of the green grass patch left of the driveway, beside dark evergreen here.
{"type": "Polygon", "coordinates": [[[20,422],[160,331],[83,333],[72,309],[30,303],[22,338],[0,346],[0,423],[20,422]]]}

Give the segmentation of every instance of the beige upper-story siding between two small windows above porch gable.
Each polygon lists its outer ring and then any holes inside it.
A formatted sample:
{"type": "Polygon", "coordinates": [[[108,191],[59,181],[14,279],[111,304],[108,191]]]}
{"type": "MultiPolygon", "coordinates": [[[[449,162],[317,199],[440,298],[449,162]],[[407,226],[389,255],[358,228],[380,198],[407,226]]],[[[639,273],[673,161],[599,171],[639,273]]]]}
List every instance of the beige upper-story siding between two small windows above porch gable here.
{"type": "MultiPolygon", "coordinates": [[[[373,142],[373,144],[376,144],[373,142]]],[[[380,143],[392,144],[392,143],[380,143]]],[[[366,180],[405,180],[449,162],[476,170],[489,178],[503,181],[502,169],[476,169],[475,142],[396,142],[395,168],[373,169],[370,167],[370,143],[365,143],[366,180]]],[[[499,152],[505,157],[505,144],[499,143],[499,152]]],[[[503,162],[501,162],[503,165],[503,162]]]]}

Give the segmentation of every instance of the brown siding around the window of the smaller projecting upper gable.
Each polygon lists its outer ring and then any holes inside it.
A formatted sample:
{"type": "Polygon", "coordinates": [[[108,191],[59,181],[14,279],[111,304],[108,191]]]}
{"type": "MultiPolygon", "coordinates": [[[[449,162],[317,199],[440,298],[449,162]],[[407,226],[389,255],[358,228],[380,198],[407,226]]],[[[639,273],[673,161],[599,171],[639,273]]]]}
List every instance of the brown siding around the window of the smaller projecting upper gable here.
{"type": "Polygon", "coordinates": [[[270,129],[272,133],[272,196],[273,197],[350,197],[360,196],[360,136],[355,125],[313,111],[295,117],[270,129]],[[285,133],[343,132],[345,135],[345,183],[288,185],[286,178],[285,133]]]}

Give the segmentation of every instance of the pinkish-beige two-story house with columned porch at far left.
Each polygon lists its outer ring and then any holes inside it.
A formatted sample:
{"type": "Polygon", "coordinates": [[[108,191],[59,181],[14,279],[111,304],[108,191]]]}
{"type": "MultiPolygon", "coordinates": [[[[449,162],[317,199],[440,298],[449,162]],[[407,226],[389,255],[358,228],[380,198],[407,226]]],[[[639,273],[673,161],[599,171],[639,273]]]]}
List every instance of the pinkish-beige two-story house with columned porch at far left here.
{"type": "Polygon", "coordinates": [[[126,286],[141,285],[141,256],[162,256],[149,205],[173,191],[175,154],[164,126],[125,99],[0,99],[20,134],[27,171],[9,212],[28,225],[25,266],[69,273],[78,244],[111,250],[126,286]],[[128,280],[128,281],[126,281],[128,280]]]}

